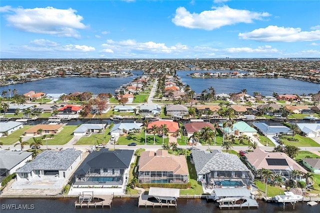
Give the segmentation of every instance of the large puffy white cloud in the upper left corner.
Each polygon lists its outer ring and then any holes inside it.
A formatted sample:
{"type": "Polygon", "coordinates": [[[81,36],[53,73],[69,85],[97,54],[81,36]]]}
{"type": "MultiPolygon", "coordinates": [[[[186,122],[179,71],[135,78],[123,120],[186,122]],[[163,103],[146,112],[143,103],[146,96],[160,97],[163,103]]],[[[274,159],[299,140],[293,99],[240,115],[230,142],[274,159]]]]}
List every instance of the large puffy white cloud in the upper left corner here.
{"type": "Polygon", "coordinates": [[[87,28],[81,23],[83,17],[75,14],[76,10],[72,8],[57,9],[48,6],[24,9],[4,6],[1,10],[10,12],[4,15],[9,26],[26,32],[79,38],[80,35],[76,29],[87,28]]]}

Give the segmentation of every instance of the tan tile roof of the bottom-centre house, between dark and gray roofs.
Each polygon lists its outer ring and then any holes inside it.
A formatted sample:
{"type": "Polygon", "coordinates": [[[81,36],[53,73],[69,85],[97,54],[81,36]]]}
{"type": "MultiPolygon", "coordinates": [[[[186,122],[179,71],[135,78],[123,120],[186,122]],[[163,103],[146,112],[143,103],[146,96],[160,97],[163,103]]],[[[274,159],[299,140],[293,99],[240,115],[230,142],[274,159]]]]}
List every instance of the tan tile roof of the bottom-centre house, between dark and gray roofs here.
{"type": "Polygon", "coordinates": [[[184,155],[169,155],[166,150],[141,152],[138,171],[170,171],[175,175],[188,175],[184,155]]]}

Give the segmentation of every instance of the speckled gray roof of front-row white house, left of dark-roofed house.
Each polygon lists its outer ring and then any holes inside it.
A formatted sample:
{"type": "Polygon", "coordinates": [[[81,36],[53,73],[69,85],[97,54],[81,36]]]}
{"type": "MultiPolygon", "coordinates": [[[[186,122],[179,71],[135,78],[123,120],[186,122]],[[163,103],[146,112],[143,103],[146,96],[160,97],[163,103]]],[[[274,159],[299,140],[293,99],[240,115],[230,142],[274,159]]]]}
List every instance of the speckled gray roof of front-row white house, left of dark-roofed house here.
{"type": "Polygon", "coordinates": [[[69,148],[62,151],[46,150],[27,163],[18,173],[28,173],[33,170],[66,170],[81,155],[81,151],[69,148]]]}

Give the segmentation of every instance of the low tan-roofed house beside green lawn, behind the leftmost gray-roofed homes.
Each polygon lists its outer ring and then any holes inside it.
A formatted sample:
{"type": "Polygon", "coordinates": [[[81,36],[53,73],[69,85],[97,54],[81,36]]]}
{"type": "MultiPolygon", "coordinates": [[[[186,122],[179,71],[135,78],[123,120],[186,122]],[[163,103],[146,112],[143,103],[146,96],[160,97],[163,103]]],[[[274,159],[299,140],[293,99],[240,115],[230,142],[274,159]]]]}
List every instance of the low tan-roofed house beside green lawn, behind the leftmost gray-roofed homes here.
{"type": "Polygon", "coordinates": [[[62,124],[37,124],[24,131],[25,136],[37,136],[38,134],[57,134],[63,129],[62,124]],[[41,130],[39,132],[39,130],[41,130]]]}

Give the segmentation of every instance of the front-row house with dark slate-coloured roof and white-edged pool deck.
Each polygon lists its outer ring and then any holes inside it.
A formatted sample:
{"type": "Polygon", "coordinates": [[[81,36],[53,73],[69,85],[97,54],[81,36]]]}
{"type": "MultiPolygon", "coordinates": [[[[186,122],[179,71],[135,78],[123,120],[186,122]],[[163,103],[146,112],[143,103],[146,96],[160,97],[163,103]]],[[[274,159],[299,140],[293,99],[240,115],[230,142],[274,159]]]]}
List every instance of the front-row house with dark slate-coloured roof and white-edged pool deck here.
{"type": "Polygon", "coordinates": [[[133,153],[134,150],[109,149],[89,153],[73,173],[72,193],[77,195],[83,191],[93,191],[98,195],[124,194],[133,153]]]}

